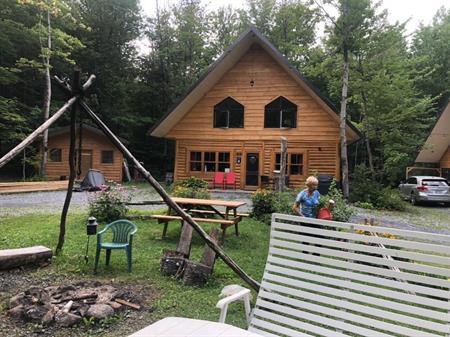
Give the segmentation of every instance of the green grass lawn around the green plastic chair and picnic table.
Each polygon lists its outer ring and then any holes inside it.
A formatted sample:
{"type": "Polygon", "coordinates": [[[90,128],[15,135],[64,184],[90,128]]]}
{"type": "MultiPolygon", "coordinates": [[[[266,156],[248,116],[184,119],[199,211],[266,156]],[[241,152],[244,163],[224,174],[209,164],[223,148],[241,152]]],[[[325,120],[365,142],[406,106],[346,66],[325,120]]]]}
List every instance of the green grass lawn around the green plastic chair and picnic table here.
{"type": "MultiPolygon", "coordinates": [[[[162,276],[159,272],[159,262],[163,249],[175,249],[180,226],[176,222],[169,225],[167,238],[161,239],[162,224],[155,221],[135,221],[138,226],[133,242],[133,272],[126,272],[125,251],[114,251],[111,254],[109,267],[104,265],[105,251],[99,265],[99,272],[93,275],[95,254],[95,237],[91,237],[89,262],[85,264],[84,254],[86,248],[85,213],[72,213],[68,217],[66,227],[66,242],[61,255],[45,268],[24,271],[25,277],[34,280],[55,279],[67,280],[99,280],[102,282],[125,282],[127,284],[150,285],[157,293],[154,303],[148,303],[151,308],[140,313],[138,319],[120,319],[117,323],[105,330],[96,331],[96,335],[122,336],[131,331],[138,330],[152,321],[166,316],[184,316],[217,321],[219,311],[215,308],[218,295],[223,286],[228,284],[245,284],[235,276],[221,260],[217,260],[213,278],[201,288],[188,287],[180,281],[162,276]],[[126,322],[129,323],[126,323],[126,322]]],[[[104,227],[99,226],[99,230],[104,227]]],[[[204,227],[206,230],[209,228],[204,227]]],[[[229,229],[224,244],[225,251],[256,280],[261,280],[265,265],[269,226],[252,219],[244,219],[240,224],[240,236],[236,237],[229,229]]],[[[54,249],[59,233],[59,214],[18,216],[0,219],[0,249],[18,248],[32,245],[45,245],[54,249]]],[[[204,244],[194,234],[191,259],[200,261],[204,244]]],[[[0,274],[0,281],[1,281],[0,274]]],[[[7,277],[4,275],[4,277],[7,277]]],[[[57,283],[57,282],[56,282],[57,283]]],[[[23,289],[11,290],[11,294],[23,289]]],[[[4,299],[6,296],[4,297],[4,299]]],[[[1,292],[0,292],[1,299],[1,292]]],[[[1,309],[1,306],[0,306],[1,309]]],[[[3,305],[3,311],[5,306],[3,305]]],[[[1,315],[0,314],[0,318],[1,315]]],[[[1,321],[1,319],[0,319],[1,321]]],[[[242,305],[232,305],[229,309],[227,322],[244,327],[245,318],[242,305]]],[[[67,330],[67,329],[66,329],[67,330]]],[[[73,333],[61,331],[62,335],[79,335],[74,329],[73,333]]],[[[2,330],[0,329],[0,335],[2,330]]]]}

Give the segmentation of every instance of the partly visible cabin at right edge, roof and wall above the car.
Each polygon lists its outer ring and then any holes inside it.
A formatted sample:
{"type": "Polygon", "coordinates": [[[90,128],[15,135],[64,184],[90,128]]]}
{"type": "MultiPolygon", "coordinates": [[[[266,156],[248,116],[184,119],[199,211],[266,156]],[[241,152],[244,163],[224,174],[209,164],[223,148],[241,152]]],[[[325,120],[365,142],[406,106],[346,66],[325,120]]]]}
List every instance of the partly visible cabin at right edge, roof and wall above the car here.
{"type": "Polygon", "coordinates": [[[450,101],[434,125],[419,155],[416,165],[427,164],[450,180],[450,101]]]}

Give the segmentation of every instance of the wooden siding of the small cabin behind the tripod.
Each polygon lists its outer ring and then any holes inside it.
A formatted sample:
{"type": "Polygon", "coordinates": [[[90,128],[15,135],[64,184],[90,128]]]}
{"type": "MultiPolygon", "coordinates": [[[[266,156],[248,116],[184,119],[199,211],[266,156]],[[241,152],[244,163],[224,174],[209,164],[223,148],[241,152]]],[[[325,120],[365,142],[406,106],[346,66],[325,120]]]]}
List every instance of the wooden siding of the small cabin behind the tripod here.
{"type": "MultiPolygon", "coordinates": [[[[105,179],[121,182],[123,165],[122,153],[117,150],[117,148],[114,147],[114,145],[106,137],[94,134],[85,129],[83,129],[82,137],[83,151],[92,151],[92,168],[101,171],[105,176],[105,179]],[[101,162],[101,151],[113,151],[114,159],[112,164],[103,164],[101,162]]],[[[63,176],[65,176],[66,179],[69,177],[69,143],[69,133],[49,137],[49,151],[53,148],[59,148],[62,150],[61,162],[52,162],[49,158],[49,162],[47,164],[47,177],[50,180],[59,180],[63,176]]],[[[78,148],[78,140],[76,144],[76,148],[78,148]]],[[[83,179],[84,177],[79,178],[83,179]]]]}

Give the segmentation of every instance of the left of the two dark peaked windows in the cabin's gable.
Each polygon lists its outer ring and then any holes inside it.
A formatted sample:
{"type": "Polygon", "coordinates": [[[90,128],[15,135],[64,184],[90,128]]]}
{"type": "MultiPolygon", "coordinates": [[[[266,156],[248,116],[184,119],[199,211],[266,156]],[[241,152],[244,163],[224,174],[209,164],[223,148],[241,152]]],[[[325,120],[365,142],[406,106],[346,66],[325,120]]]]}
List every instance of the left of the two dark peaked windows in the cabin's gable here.
{"type": "Polygon", "coordinates": [[[214,106],[215,128],[243,128],[244,106],[231,97],[214,106]]]}

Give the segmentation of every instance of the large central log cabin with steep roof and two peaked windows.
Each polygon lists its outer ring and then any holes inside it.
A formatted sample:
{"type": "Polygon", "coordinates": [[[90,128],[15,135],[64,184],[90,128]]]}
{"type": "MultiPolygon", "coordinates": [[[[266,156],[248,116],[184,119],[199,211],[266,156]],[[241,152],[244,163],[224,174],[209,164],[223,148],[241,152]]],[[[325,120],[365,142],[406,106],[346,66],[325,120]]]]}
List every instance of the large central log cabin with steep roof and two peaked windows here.
{"type": "MultiPolygon", "coordinates": [[[[358,132],[347,124],[349,143],[358,132]]],[[[287,59],[250,28],[152,128],[176,141],[174,179],[212,181],[235,172],[237,187],[253,190],[280,168],[287,138],[289,186],[313,173],[340,180],[339,116],[287,59]]]]}

